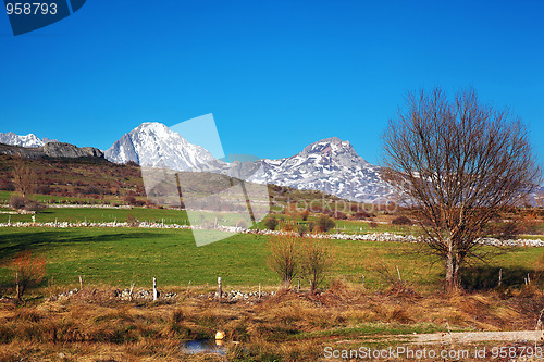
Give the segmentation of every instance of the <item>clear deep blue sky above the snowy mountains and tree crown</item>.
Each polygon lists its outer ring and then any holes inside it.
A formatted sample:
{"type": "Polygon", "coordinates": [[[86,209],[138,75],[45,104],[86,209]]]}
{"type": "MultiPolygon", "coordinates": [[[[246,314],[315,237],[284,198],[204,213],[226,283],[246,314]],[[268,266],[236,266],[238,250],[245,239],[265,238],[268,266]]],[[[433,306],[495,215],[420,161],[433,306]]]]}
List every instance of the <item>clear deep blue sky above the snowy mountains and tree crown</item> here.
{"type": "Polygon", "coordinates": [[[0,54],[0,132],[107,149],[213,113],[225,153],[337,136],[375,163],[408,90],[473,86],[544,160],[542,1],[88,0],[17,37],[1,13],[0,54]]]}

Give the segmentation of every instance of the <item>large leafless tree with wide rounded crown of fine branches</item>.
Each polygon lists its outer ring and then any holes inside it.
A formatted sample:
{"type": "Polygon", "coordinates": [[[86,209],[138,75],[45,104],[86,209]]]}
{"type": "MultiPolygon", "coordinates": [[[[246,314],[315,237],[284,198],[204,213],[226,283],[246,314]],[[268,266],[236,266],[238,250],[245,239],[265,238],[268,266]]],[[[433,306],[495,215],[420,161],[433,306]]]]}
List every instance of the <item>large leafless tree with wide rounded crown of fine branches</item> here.
{"type": "Polygon", "coordinates": [[[430,250],[445,262],[445,289],[478,255],[485,225],[541,183],[526,125],[482,105],[475,91],[409,93],[383,135],[385,178],[418,210],[430,250]]]}

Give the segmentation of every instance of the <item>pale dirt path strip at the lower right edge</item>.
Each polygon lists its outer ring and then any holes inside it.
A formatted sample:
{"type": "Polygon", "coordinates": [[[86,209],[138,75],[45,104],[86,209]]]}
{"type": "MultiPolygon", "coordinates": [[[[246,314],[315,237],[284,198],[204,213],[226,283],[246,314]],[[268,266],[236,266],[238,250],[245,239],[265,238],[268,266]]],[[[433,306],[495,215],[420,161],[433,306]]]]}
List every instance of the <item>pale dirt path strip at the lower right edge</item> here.
{"type": "MultiPolygon", "coordinates": [[[[406,337],[406,336],[403,336],[406,337]]],[[[467,344],[474,341],[544,341],[543,330],[453,332],[412,335],[413,344],[467,344]]]]}

